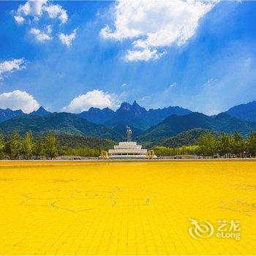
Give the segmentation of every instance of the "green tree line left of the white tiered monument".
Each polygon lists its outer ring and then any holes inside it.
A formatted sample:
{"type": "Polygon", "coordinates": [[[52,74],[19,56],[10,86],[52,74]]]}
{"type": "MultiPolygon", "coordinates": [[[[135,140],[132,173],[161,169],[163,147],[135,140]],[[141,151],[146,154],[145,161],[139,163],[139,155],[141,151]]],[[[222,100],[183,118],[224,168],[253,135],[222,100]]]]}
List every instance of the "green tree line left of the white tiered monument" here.
{"type": "Polygon", "coordinates": [[[31,131],[22,138],[18,132],[13,132],[10,138],[0,134],[0,159],[53,159],[57,156],[99,157],[100,148],[61,146],[56,135],[33,137],[31,131]]]}

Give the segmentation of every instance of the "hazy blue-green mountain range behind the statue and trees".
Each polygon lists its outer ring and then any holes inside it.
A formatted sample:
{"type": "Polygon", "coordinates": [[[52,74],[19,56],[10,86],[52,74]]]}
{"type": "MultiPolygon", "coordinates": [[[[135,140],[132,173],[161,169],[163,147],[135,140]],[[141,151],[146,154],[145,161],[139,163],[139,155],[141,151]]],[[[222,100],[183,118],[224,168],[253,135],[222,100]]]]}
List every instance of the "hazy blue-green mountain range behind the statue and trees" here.
{"type": "Polygon", "coordinates": [[[80,135],[118,141],[124,140],[128,124],[132,127],[133,138],[147,145],[165,140],[165,145],[185,143],[182,136],[173,136],[191,129],[192,132],[185,134],[184,138],[197,138],[206,130],[227,133],[236,130],[246,136],[249,132],[256,131],[254,121],[255,101],[237,105],[216,116],[193,113],[177,106],[146,110],[136,101],[132,105],[124,102],[116,111],[110,108],[90,108],[78,114],[50,113],[42,107],[30,114],[25,114],[21,110],[0,109],[0,131],[4,135],[10,135],[14,130],[24,135],[31,129],[34,135],[52,131],[57,135],[80,135]]]}

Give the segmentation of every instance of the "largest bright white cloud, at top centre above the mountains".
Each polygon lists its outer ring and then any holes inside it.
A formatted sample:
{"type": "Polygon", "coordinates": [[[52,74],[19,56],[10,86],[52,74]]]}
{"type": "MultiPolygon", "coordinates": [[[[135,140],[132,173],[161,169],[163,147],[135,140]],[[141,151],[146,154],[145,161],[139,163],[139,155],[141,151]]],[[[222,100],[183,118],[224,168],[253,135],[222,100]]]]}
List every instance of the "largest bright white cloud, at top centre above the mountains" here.
{"type": "Polygon", "coordinates": [[[159,48],[184,45],[194,35],[200,18],[216,2],[121,0],[114,7],[114,28],[106,25],[100,34],[103,38],[132,40],[127,61],[159,59],[165,53],[159,53],[159,48]]]}

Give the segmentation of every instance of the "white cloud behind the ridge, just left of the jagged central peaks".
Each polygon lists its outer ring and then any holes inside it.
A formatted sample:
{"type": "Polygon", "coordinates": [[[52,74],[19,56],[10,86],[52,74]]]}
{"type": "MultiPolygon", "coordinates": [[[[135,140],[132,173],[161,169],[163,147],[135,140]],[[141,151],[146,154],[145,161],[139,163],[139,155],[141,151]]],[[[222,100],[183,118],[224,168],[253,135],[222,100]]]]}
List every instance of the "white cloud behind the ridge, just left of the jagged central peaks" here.
{"type": "Polygon", "coordinates": [[[80,94],[78,97],[75,97],[63,110],[78,113],[89,110],[91,107],[116,109],[119,104],[120,102],[115,94],[94,90],[87,91],[86,94],[80,94]]]}

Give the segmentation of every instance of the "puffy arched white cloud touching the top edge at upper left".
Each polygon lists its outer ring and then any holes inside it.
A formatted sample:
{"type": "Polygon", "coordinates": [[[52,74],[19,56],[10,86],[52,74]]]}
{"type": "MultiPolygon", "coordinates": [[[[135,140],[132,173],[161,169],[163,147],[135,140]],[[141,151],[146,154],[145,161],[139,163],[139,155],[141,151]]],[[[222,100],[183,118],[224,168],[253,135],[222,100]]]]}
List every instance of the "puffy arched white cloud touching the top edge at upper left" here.
{"type": "Polygon", "coordinates": [[[48,0],[26,1],[25,4],[18,7],[14,18],[18,23],[21,18],[24,21],[27,16],[38,20],[44,12],[48,13],[50,18],[59,18],[61,23],[66,23],[68,20],[67,10],[64,10],[59,4],[49,4],[48,0]]]}

